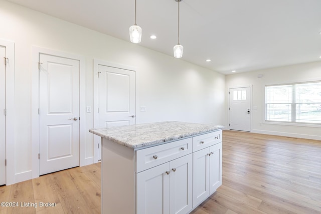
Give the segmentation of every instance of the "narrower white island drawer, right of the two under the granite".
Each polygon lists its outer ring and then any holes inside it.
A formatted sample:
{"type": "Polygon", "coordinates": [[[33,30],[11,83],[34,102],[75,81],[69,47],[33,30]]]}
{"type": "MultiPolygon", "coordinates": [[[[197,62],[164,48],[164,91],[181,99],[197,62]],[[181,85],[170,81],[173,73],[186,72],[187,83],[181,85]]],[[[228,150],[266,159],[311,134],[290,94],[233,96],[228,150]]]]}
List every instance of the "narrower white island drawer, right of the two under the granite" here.
{"type": "Polygon", "coordinates": [[[222,130],[193,137],[193,152],[222,142],[222,130]]]}

